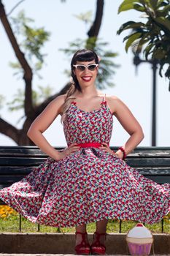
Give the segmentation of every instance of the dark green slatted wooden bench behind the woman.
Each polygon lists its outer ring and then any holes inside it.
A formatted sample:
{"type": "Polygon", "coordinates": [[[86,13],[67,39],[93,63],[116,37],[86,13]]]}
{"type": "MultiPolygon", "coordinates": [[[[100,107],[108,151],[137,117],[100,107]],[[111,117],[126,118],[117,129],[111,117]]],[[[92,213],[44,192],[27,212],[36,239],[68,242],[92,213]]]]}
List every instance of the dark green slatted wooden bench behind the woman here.
{"type": "MultiPolygon", "coordinates": [[[[1,146],[0,189],[20,181],[45,159],[47,155],[36,146],[1,146]]],[[[137,147],[125,161],[158,184],[170,183],[170,147],[137,147]]],[[[0,200],[0,205],[5,203],[0,200]]]]}

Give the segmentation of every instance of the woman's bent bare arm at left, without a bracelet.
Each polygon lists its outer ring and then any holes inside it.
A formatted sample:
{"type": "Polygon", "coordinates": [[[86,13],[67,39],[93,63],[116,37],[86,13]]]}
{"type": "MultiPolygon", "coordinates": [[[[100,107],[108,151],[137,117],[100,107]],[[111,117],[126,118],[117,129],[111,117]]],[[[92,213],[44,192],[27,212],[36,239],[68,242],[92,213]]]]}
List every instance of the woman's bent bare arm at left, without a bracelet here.
{"type": "Polygon", "coordinates": [[[58,96],[50,102],[43,112],[34,120],[31,127],[28,129],[27,135],[36,146],[53,159],[59,159],[59,152],[47,142],[44,135],[45,130],[50,127],[55,118],[61,112],[61,106],[64,102],[64,95],[58,96]]]}

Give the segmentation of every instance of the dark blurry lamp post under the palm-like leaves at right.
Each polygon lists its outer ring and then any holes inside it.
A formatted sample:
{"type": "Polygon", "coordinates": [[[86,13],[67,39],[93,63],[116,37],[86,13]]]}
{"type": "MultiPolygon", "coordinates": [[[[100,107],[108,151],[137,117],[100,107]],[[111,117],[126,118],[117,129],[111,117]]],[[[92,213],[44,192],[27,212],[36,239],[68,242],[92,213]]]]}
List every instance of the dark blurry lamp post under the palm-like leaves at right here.
{"type": "Polygon", "coordinates": [[[152,65],[152,146],[156,146],[156,71],[158,60],[143,60],[140,59],[139,54],[134,56],[134,65],[136,68],[142,62],[147,62],[152,65]]]}

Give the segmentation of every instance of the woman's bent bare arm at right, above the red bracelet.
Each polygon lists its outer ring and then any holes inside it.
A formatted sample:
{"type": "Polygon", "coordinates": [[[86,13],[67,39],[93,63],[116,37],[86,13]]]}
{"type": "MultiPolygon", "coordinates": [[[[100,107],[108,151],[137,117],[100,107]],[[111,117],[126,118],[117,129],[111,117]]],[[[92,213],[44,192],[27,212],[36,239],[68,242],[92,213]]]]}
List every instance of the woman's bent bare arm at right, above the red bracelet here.
{"type": "MultiPolygon", "coordinates": [[[[133,116],[128,107],[117,97],[110,97],[109,99],[110,108],[113,110],[113,114],[116,116],[117,120],[123,126],[126,132],[130,135],[130,138],[126,141],[123,148],[125,154],[129,154],[136,148],[136,146],[144,138],[144,133],[139,122],[133,116]]],[[[118,157],[123,158],[123,152],[118,150],[116,152],[118,157]]]]}

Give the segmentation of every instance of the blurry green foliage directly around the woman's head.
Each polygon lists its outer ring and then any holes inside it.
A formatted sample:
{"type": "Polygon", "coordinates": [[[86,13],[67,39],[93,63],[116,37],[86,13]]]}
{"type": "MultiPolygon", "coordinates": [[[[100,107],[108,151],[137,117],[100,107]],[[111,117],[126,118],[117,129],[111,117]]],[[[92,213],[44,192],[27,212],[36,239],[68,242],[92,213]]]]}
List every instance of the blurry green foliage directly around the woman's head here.
{"type": "MultiPolygon", "coordinates": [[[[88,39],[75,39],[74,42],[69,42],[69,47],[61,49],[66,55],[72,57],[73,54],[82,48],[93,49],[101,58],[100,68],[98,69],[98,77],[96,86],[98,89],[104,89],[106,86],[114,86],[112,83],[112,75],[115,74],[115,68],[119,65],[115,64],[112,59],[117,56],[117,53],[113,53],[112,50],[106,50],[108,43],[102,42],[101,39],[96,37],[90,37],[88,39]]],[[[70,70],[64,71],[66,75],[71,75],[70,70]]]]}

